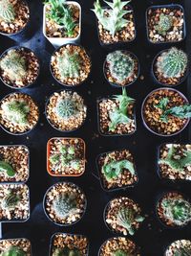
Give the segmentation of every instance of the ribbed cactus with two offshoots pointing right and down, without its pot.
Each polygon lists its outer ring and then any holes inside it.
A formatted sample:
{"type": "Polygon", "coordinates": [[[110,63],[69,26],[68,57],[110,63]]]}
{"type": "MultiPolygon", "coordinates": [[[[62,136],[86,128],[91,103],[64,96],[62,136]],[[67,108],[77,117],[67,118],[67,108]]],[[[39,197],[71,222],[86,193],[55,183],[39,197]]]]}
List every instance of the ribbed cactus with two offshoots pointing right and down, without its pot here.
{"type": "Polygon", "coordinates": [[[135,234],[134,223],[144,221],[144,217],[140,216],[133,208],[122,207],[117,213],[117,224],[126,228],[130,235],[135,234]]]}

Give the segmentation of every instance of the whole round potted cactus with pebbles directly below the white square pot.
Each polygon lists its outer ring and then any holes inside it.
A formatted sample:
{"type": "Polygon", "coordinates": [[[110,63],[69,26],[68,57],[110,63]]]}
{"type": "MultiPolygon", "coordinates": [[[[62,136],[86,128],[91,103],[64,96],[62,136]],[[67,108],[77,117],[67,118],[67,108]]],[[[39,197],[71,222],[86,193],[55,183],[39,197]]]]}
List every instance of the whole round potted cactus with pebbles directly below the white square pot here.
{"type": "Polygon", "coordinates": [[[74,87],[86,81],[92,67],[86,50],[76,44],[65,44],[54,51],[50,68],[60,84],[74,87]]]}

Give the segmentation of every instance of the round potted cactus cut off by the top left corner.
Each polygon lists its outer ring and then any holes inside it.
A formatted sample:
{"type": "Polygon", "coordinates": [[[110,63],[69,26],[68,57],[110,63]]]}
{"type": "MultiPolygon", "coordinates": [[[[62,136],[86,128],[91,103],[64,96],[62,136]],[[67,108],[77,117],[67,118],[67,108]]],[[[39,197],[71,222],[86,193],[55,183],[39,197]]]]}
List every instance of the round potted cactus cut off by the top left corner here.
{"type": "Polygon", "coordinates": [[[0,1],[0,34],[16,35],[21,33],[30,19],[30,9],[25,0],[0,1]]]}

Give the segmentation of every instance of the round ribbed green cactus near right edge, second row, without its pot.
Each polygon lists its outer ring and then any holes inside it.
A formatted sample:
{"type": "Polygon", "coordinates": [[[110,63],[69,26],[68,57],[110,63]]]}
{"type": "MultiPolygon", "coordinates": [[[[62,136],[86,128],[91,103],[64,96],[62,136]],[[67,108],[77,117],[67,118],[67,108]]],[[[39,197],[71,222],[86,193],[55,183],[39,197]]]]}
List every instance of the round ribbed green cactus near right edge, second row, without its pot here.
{"type": "Polygon", "coordinates": [[[187,55],[176,47],[161,54],[157,61],[157,69],[164,78],[180,78],[186,71],[187,55]]]}

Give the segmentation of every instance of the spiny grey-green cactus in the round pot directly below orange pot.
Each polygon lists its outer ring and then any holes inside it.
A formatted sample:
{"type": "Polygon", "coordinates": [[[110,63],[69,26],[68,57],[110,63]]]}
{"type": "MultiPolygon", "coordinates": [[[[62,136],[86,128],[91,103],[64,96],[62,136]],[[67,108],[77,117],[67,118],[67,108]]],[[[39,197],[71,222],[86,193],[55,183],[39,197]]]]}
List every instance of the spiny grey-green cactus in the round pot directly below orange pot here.
{"type": "Polygon", "coordinates": [[[74,193],[61,193],[53,199],[53,210],[60,219],[65,219],[76,213],[76,195],[74,193]]]}

